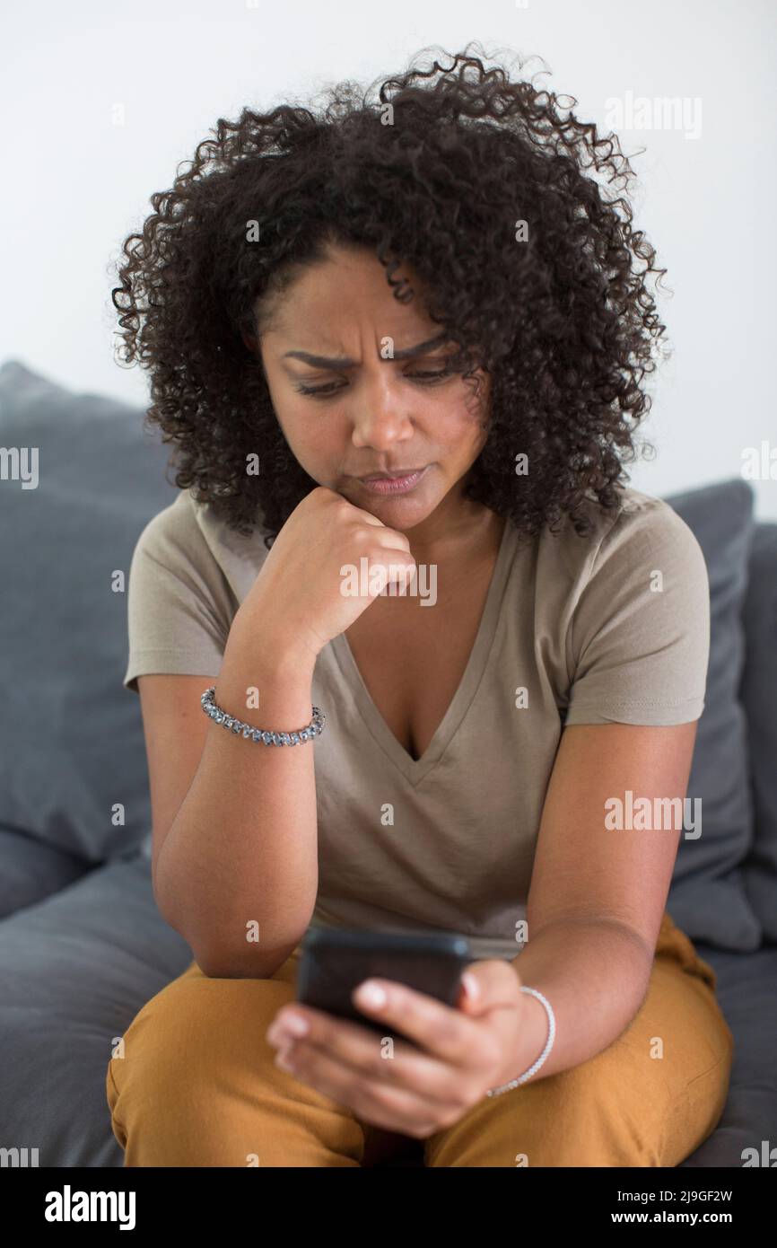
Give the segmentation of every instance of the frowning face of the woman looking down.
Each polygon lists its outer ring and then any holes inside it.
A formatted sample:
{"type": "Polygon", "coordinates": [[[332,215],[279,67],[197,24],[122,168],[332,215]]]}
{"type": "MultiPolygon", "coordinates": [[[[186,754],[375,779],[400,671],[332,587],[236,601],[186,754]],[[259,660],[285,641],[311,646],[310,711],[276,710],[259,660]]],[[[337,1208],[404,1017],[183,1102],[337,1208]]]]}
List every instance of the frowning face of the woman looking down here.
{"type": "Polygon", "coordinates": [[[461,478],[486,434],[471,383],[444,373],[456,344],[434,341],[440,327],[424,313],[413,273],[395,276],[413,285],[410,303],[393,297],[372,252],[331,247],[278,300],[259,351],[276,416],[304,470],[394,529],[437,513],[417,533],[432,540],[455,527],[461,478]],[[418,468],[425,472],[408,493],[377,494],[359,480],[418,468]]]}

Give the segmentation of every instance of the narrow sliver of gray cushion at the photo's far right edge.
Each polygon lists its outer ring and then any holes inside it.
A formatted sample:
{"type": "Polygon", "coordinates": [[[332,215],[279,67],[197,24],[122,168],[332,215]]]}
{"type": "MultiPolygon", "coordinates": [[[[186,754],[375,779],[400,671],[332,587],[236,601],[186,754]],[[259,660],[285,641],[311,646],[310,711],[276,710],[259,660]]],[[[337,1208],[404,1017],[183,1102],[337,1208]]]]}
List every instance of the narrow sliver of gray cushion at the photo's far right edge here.
{"type": "Polygon", "coordinates": [[[747,713],[753,849],[745,885],[763,938],[777,943],[777,524],[756,528],[745,609],[740,696],[747,713]]]}

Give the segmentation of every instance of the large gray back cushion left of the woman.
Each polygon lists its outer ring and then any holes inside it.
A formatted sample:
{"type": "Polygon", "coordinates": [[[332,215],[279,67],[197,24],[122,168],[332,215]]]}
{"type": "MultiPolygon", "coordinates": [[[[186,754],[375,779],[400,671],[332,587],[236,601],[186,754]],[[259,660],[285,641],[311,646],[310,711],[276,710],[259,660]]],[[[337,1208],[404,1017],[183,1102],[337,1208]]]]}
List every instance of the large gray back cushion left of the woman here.
{"type": "Polygon", "coordinates": [[[140,704],[121,684],[126,593],[111,589],[175,497],[170,448],[142,419],[0,368],[0,446],[39,453],[36,488],[0,482],[0,825],[87,862],[150,839],[140,704]]]}

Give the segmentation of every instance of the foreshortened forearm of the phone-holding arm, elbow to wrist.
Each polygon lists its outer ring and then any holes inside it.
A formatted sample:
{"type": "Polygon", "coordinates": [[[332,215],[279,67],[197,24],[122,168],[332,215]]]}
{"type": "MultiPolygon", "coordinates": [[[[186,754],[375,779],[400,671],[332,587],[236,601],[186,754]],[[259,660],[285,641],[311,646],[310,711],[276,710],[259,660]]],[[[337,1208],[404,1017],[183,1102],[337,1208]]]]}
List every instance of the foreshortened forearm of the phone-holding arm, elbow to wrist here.
{"type": "MultiPolygon", "coordinates": [[[[601,920],[559,921],[544,927],[513,965],[521,983],[541,992],[553,1007],[556,1037],[550,1056],[528,1082],[580,1066],[612,1043],[642,1005],[654,953],[629,927],[601,920]]],[[[531,993],[526,1028],[504,1080],[518,1078],[548,1040],[545,1007],[531,993]]]]}

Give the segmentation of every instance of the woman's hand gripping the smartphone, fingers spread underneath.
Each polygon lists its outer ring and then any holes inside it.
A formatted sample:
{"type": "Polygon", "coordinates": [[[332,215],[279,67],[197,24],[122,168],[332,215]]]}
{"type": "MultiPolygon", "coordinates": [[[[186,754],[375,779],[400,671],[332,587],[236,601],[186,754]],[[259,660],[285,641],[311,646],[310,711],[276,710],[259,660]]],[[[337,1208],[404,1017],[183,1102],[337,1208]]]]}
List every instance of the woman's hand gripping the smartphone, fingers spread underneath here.
{"type": "Polygon", "coordinates": [[[363,1122],[425,1139],[458,1122],[489,1088],[515,1078],[536,1057],[529,1053],[523,1062],[528,997],[520,992],[516,967],[506,960],[470,962],[458,1008],[393,980],[368,982],[385,991],[385,1003],[369,1006],[364,983],[353,1001],[385,1023],[385,1037],[297,1001],[278,1011],[267,1032],[278,1048],[277,1066],[363,1122]],[[304,1036],[288,1028],[292,1016],[308,1023],[304,1036]],[[422,1052],[393,1036],[392,1026],[422,1052]]]}

